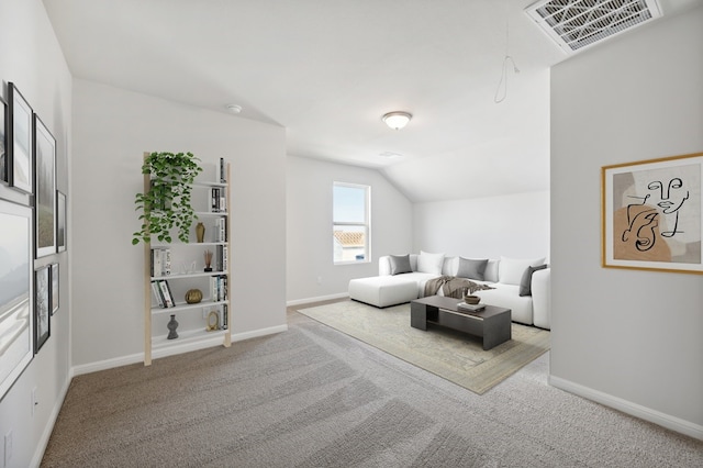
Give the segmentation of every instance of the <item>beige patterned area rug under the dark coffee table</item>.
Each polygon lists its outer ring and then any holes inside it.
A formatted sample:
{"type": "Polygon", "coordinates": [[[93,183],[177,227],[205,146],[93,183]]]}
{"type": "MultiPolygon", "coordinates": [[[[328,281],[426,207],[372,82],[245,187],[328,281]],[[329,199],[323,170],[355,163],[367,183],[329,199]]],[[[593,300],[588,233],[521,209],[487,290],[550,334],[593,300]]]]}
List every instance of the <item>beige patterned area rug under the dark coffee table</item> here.
{"type": "Polygon", "coordinates": [[[410,326],[410,304],[377,309],[342,301],[298,312],[478,394],[549,349],[549,332],[513,323],[512,339],[483,350],[481,338],[438,325],[410,326]]]}

